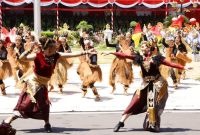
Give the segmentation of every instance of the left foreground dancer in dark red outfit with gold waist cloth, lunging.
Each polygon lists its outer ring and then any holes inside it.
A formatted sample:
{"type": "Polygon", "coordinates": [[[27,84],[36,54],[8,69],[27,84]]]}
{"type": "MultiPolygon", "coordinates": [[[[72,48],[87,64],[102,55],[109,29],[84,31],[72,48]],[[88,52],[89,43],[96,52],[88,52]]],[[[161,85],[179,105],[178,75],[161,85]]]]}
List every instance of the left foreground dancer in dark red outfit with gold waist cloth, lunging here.
{"type": "Polygon", "coordinates": [[[33,118],[45,121],[45,131],[51,132],[49,123],[50,101],[48,98],[47,83],[50,80],[56,62],[59,58],[71,58],[91,54],[94,50],[78,53],[57,53],[56,41],[48,38],[40,38],[43,51],[29,54],[25,51],[19,59],[23,61],[34,61],[34,69],[27,72],[20,81],[24,88],[20,94],[18,103],[14,108],[12,116],[3,121],[2,125],[10,125],[17,118],[33,118]]]}

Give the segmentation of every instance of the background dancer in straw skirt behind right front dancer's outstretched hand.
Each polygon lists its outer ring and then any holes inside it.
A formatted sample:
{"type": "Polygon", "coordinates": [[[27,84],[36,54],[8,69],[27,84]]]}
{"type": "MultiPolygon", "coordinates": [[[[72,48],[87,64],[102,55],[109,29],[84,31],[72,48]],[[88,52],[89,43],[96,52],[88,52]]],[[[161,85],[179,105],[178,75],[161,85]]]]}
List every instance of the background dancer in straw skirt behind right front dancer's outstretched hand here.
{"type": "MultiPolygon", "coordinates": [[[[116,52],[123,52],[128,55],[135,53],[133,47],[134,43],[129,37],[125,38],[124,36],[118,36],[117,40],[117,44],[110,44],[106,39],[107,47],[115,47],[116,52]]],[[[129,85],[133,82],[133,79],[132,61],[116,57],[112,62],[109,75],[109,84],[112,86],[111,93],[114,93],[116,90],[115,83],[119,82],[124,85],[124,94],[127,95],[127,90],[129,85]]]]}

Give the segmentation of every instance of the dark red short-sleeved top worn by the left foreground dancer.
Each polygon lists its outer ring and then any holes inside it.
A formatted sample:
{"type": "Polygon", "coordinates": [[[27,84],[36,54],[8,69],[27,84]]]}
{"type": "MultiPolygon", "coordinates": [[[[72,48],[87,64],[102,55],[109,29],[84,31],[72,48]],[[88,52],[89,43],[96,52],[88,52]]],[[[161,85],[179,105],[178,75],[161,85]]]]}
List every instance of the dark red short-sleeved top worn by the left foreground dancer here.
{"type": "Polygon", "coordinates": [[[50,78],[59,57],[58,53],[51,56],[44,56],[42,52],[37,53],[34,60],[34,72],[37,75],[50,78]]]}

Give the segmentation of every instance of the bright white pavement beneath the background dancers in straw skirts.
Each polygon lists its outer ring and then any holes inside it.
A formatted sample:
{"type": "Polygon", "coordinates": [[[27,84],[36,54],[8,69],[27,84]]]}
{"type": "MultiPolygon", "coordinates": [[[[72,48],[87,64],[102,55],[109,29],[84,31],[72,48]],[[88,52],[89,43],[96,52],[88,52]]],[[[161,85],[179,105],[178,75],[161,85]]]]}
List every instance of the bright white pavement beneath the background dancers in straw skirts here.
{"type": "MultiPolygon", "coordinates": [[[[100,65],[103,72],[103,81],[96,83],[101,101],[95,102],[93,93],[88,89],[85,98],[81,98],[81,81],[76,73],[78,65],[74,65],[68,71],[68,83],[64,85],[64,93],[59,94],[58,88],[49,93],[52,103],[51,112],[67,112],[67,111],[122,111],[129,104],[134,91],[140,86],[141,79],[139,76],[140,69],[134,67],[134,83],[130,86],[126,96],[123,94],[123,86],[117,84],[114,94],[110,94],[111,87],[108,85],[108,76],[110,64],[100,65]]],[[[189,75],[188,75],[189,76],[189,75]]],[[[19,89],[16,89],[13,78],[5,80],[7,96],[0,95],[0,114],[12,113],[15,107],[19,89]]],[[[179,88],[174,90],[172,81],[169,79],[169,98],[166,104],[167,110],[183,109],[196,110],[200,109],[200,82],[192,79],[181,81],[179,88]]]]}

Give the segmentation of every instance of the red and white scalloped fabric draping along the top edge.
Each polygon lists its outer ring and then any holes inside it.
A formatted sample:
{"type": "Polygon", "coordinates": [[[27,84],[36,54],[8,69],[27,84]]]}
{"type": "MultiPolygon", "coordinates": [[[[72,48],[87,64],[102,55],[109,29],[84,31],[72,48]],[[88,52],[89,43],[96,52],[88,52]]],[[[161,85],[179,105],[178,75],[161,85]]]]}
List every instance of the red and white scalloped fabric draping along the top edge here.
{"type": "MultiPolygon", "coordinates": [[[[34,0],[1,0],[3,3],[12,6],[20,6],[22,4],[33,3],[34,0]]],[[[51,4],[62,4],[67,7],[75,7],[81,4],[89,4],[92,7],[102,8],[106,5],[117,5],[121,8],[131,8],[135,5],[144,5],[148,8],[158,8],[164,4],[171,4],[176,1],[179,6],[180,3],[183,4],[183,7],[187,7],[194,2],[200,5],[199,0],[184,0],[184,2],[180,2],[180,0],[41,0],[41,6],[49,6],[51,4]]]]}

